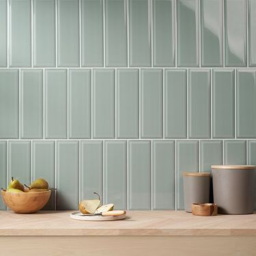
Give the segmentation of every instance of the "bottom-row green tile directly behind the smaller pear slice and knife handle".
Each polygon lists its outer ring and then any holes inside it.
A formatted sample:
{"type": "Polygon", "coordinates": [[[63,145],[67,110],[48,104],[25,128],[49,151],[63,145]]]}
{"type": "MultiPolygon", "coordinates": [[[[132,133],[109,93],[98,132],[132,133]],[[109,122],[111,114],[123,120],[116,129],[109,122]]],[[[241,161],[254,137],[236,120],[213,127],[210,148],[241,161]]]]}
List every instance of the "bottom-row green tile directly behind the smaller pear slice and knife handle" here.
{"type": "Polygon", "coordinates": [[[126,141],[106,141],[104,152],[104,203],[114,203],[115,209],[126,209],[126,141]]]}

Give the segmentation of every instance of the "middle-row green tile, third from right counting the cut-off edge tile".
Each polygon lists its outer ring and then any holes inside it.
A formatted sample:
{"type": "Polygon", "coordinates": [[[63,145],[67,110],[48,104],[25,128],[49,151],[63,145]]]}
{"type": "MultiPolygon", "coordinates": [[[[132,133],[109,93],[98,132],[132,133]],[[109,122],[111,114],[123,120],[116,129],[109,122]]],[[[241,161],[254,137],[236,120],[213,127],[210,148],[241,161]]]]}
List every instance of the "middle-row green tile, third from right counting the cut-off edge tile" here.
{"type": "Polygon", "coordinates": [[[210,138],[210,70],[189,70],[188,108],[189,137],[210,138]]]}

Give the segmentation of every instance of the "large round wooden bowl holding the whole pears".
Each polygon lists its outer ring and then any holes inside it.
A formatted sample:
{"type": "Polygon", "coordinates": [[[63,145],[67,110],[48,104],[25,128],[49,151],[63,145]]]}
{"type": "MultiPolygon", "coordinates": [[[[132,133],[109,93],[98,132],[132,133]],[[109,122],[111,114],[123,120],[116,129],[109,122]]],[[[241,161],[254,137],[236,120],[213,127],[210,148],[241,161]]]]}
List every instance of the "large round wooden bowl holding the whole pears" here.
{"type": "Polygon", "coordinates": [[[16,213],[32,213],[41,210],[51,197],[51,190],[43,192],[12,193],[1,191],[3,202],[16,213]]]}

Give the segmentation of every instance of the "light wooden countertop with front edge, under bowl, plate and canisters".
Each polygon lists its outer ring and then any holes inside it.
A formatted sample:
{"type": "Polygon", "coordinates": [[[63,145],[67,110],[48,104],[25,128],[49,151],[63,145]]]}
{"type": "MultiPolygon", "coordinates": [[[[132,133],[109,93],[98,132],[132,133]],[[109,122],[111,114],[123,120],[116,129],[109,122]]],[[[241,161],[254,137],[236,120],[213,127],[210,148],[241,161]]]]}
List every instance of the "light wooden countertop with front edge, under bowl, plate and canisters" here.
{"type": "Polygon", "coordinates": [[[74,211],[0,211],[0,236],[256,236],[256,214],[193,216],[184,211],[128,211],[122,221],[76,221],[74,211]]]}

